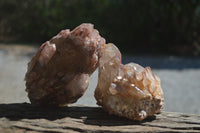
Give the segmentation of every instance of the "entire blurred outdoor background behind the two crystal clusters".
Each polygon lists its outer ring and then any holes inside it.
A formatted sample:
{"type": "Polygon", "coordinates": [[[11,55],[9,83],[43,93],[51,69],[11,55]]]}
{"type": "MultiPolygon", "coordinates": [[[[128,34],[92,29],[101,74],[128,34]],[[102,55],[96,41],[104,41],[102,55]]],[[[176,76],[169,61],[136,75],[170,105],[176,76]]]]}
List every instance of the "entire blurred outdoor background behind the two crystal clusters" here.
{"type": "MultiPolygon", "coordinates": [[[[27,63],[42,43],[82,23],[114,43],[123,63],[152,68],[164,110],[200,114],[199,0],[1,0],[0,104],[29,102],[27,63]]],[[[97,75],[76,104],[97,106],[97,75]]]]}

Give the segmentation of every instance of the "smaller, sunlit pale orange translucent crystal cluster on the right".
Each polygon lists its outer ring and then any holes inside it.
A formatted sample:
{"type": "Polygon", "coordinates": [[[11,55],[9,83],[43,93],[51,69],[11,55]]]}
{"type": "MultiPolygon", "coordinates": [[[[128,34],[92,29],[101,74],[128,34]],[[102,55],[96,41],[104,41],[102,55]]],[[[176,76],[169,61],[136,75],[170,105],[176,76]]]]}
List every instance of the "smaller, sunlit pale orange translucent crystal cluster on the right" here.
{"type": "Polygon", "coordinates": [[[121,53],[113,44],[102,46],[95,98],[110,114],[138,121],[159,113],[164,101],[159,77],[150,67],[121,64],[121,53]]]}

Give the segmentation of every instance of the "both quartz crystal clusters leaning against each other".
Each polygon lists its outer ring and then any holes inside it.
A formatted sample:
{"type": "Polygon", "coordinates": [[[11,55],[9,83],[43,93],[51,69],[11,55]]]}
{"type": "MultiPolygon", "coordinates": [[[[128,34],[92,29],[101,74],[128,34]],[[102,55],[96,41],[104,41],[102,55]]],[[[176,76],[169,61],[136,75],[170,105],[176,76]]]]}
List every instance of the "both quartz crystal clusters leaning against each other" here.
{"type": "Polygon", "coordinates": [[[80,98],[99,66],[97,104],[110,114],[143,120],[163,107],[160,79],[149,67],[121,64],[114,44],[105,44],[92,24],[63,30],[44,43],[28,64],[26,91],[33,104],[63,106],[80,98]]]}

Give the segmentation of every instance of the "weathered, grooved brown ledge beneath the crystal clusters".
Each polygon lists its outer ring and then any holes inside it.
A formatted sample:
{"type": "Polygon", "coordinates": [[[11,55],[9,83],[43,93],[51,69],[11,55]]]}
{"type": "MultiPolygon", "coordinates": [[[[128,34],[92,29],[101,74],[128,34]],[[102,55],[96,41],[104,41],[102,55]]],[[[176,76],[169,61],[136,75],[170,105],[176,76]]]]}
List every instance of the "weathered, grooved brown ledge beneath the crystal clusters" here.
{"type": "Polygon", "coordinates": [[[100,107],[0,104],[1,133],[200,132],[200,115],[161,112],[142,122],[108,115],[100,107]]]}

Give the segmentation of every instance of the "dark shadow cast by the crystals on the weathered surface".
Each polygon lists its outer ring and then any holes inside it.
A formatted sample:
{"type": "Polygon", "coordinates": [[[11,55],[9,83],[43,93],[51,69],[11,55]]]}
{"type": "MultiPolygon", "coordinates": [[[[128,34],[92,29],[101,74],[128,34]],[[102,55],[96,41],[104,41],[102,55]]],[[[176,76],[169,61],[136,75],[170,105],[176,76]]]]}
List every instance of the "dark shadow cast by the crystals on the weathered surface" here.
{"type": "Polygon", "coordinates": [[[70,117],[81,119],[87,125],[98,126],[139,125],[156,119],[156,116],[152,116],[138,122],[109,115],[101,107],[41,107],[28,103],[0,104],[0,118],[3,117],[12,121],[21,119],[47,119],[53,121],[70,117]]]}

